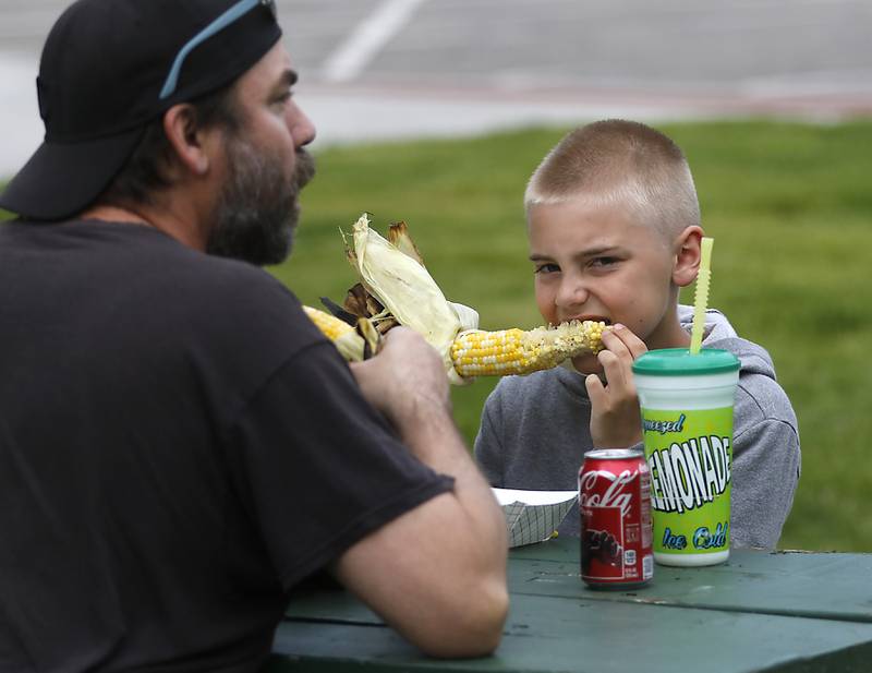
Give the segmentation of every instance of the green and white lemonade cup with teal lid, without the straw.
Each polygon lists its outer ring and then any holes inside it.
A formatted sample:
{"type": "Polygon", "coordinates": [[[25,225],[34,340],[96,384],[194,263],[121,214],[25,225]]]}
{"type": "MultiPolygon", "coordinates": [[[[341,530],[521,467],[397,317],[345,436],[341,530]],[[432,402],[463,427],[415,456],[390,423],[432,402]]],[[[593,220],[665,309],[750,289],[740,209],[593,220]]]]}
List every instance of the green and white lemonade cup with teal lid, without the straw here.
{"type": "Polygon", "coordinates": [[[654,561],[699,566],[729,557],[731,352],[665,348],[633,362],[651,471],[654,561]]]}

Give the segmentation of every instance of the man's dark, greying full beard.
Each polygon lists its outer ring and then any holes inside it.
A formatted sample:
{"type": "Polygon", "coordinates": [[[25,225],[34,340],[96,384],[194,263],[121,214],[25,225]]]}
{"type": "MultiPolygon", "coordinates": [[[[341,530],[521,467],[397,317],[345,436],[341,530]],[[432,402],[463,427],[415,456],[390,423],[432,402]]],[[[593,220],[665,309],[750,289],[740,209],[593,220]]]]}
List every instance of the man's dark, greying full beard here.
{"type": "Polygon", "coordinates": [[[227,158],[229,177],[213,215],[206,252],[257,266],[283,262],[300,217],[300,190],[315,175],[312,155],[296,151],[290,179],[280,157],[239,139],[228,142],[227,158]]]}

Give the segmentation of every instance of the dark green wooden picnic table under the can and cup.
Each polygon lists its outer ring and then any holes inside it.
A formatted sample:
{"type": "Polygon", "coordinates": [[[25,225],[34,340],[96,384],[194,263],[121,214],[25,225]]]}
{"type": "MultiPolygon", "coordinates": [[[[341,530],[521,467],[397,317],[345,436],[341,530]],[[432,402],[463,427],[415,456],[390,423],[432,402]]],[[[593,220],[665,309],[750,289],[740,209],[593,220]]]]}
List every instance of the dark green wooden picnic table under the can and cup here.
{"type": "Polygon", "coordinates": [[[604,591],[581,581],[578,540],[559,538],[511,550],[508,576],[492,657],[428,659],[342,589],[319,588],[291,600],[266,671],[872,671],[872,554],[734,550],[604,591]]]}

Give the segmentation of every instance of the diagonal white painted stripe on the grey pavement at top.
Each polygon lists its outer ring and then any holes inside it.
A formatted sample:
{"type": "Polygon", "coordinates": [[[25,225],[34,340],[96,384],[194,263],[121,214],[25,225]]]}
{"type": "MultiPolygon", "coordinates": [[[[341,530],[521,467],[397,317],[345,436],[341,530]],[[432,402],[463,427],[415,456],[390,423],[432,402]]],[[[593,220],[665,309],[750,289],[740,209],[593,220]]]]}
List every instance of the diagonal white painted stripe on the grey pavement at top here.
{"type": "Polygon", "coordinates": [[[324,64],[325,82],[354,80],[426,0],[384,0],[324,64]]]}

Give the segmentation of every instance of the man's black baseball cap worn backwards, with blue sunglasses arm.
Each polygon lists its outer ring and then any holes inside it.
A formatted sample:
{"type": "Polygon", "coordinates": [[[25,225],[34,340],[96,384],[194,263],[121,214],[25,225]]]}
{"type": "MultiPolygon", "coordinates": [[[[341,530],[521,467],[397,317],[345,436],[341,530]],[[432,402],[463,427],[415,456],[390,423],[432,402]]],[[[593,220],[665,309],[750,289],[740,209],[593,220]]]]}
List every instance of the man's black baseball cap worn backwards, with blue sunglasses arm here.
{"type": "Polygon", "coordinates": [[[38,220],[83,211],[150,121],[231,84],[280,37],[275,0],[73,2],[39,62],[45,140],[0,195],[0,207],[38,220]]]}

